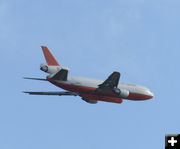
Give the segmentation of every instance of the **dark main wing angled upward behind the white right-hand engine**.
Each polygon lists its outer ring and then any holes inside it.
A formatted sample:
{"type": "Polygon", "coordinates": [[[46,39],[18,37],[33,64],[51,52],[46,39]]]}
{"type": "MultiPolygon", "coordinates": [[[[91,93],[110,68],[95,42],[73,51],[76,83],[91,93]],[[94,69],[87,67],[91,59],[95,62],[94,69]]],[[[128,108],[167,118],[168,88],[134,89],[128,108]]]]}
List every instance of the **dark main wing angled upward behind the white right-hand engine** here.
{"type": "Polygon", "coordinates": [[[99,87],[96,91],[112,91],[114,88],[117,88],[119,83],[120,73],[113,72],[102,84],[98,85],[99,87]]]}

